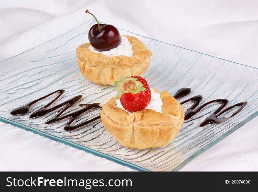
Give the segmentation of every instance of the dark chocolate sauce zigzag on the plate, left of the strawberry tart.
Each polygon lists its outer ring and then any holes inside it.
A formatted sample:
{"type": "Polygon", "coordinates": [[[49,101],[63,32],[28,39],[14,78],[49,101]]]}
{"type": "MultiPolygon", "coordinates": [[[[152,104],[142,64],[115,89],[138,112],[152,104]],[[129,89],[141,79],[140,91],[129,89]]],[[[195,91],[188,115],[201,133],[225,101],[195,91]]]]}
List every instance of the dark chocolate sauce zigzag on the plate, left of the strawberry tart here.
{"type": "Polygon", "coordinates": [[[12,115],[26,114],[26,113],[29,112],[30,107],[31,107],[33,104],[35,104],[35,103],[39,102],[40,100],[43,100],[43,99],[45,99],[45,98],[47,98],[47,97],[53,95],[53,94],[55,94],[55,93],[59,93],[59,94],[57,95],[57,97],[55,97],[55,98],[54,98],[52,101],[50,101],[48,104],[46,104],[45,106],[41,107],[41,108],[38,109],[37,111],[33,112],[33,113],[30,115],[30,118],[43,116],[43,115],[45,115],[45,114],[47,114],[47,113],[49,113],[49,112],[51,112],[51,111],[54,111],[54,110],[56,110],[56,109],[59,109],[59,108],[63,107],[64,105],[66,105],[66,107],[65,107],[61,112],[59,112],[53,119],[51,119],[51,120],[45,122],[45,124],[54,123],[54,122],[56,122],[56,121],[60,121],[60,120],[66,119],[66,118],[68,118],[68,117],[72,117],[72,119],[69,120],[69,122],[65,125],[65,128],[64,128],[65,131],[71,131],[71,130],[73,130],[73,129],[82,127],[82,126],[84,126],[84,125],[87,125],[87,124],[89,124],[89,123],[91,123],[91,122],[93,122],[93,121],[96,121],[96,120],[100,119],[100,115],[99,115],[99,116],[94,117],[93,119],[90,119],[90,120],[85,121],[85,122],[83,122],[83,123],[80,123],[80,124],[78,124],[78,125],[71,126],[72,122],[73,122],[80,114],[82,114],[82,113],[84,113],[84,112],[87,112],[87,111],[89,111],[90,109],[102,108],[102,107],[99,106],[100,103],[79,104],[79,106],[86,106],[86,107],[84,107],[84,108],[82,108],[82,109],[80,109],[80,110],[78,110],[78,111],[72,112],[72,113],[70,113],[70,114],[67,114],[67,115],[65,115],[65,116],[59,117],[62,113],[64,113],[67,109],[69,109],[70,107],[72,107],[79,99],[82,98],[82,95],[77,95],[77,96],[75,96],[75,97],[73,97],[73,98],[71,98],[71,99],[69,99],[69,100],[67,100],[67,101],[65,101],[65,102],[62,102],[62,103],[60,103],[60,104],[58,104],[58,105],[56,105],[56,106],[53,106],[53,107],[51,107],[51,108],[48,108],[48,107],[49,107],[51,104],[53,104],[59,97],[61,97],[61,95],[62,95],[64,92],[65,92],[65,90],[62,90],[62,89],[61,89],[61,90],[54,91],[54,92],[52,92],[52,93],[50,93],[50,94],[48,94],[48,95],[46,95],[46,96],[44,96],[44,97],[40,97],[39,99],[34,100],[34,101],[32,101],[32,102],[30,102],[30,103],[28,103],[28,104],[26,104],[26,105],[24,105],[24,106],[22,106],[22,107],[19,107],[19,108],[17,108],[17,109],[14,109],[13,111],[11,111],[11,114],[12,114],[12,115]]]}

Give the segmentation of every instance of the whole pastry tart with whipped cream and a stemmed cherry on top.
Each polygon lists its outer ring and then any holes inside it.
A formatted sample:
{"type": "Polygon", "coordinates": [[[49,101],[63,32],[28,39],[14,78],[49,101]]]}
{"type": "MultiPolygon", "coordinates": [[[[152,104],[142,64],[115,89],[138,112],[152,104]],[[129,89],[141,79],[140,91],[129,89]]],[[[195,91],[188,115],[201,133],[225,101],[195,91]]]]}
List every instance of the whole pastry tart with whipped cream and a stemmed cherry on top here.
{"type": "Polygon", "coordinates": [[[150,64],[152,52],[136,37],[120,36],[115,26],[96,21],[88,33],[89,43],[76,49],[82,75],[105,85],[114,85],[120,75],[141,76],[150,64]]]}

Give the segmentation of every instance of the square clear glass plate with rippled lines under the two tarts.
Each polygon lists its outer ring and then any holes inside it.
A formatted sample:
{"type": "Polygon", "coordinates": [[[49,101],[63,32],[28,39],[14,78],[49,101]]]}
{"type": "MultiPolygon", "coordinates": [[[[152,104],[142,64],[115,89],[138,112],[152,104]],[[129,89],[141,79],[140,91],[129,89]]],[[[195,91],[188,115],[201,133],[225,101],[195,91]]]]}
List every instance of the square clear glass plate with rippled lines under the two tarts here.
{"type": "MultiPolygon", "coordinates": [[[[76,95],[83,95],[77,104],[62,115],[80,108],[78,104],[104,103],[116,95],[112,86],[90,82],[82,76],[78,68],[75,49],[79,44],[88,42],[87,33],[94,23],[94,20],[90,20],[60,37],[1,62],[1,121],[136,170],[176,171],[257,116],[257,68],[183,49],[121,29],[121,35],[137,37],[152,51],[150,66],[143,75],[150,87],[159,91],[167,90],[170,95],[174,95],[180,88],[191,88],[191,94],[180,98],[179,102],[194,95],[202,95],[201,104],[221,98],[230,101],[227,106],[244,101],[248,101],[248,104],[237,115],[222,124],[199,127],[199,124],[219,106],[219,104],[209,105],[185,121],[171,143],[162,148],[144,150],[120,145],[105,130],[101,120],[74,131],[64,131],[68,119],[57,124],[44,124],[53,118],[57,111],[29,119],[35,109],[42,107],[56,95],[33,105],[28,114],[10,115],[14,108],[58,89],[64,89],[65,93],[53,105],[76,95]]],[[[189,102],[183,107],[186,109],[191,104],[189,102]]],[[[83,114],[74,121],[74,124],[94,118],[99,112],[98,109],[83,114]]],[[[230,114],[232,111],[225,116],[230,114]]]]}

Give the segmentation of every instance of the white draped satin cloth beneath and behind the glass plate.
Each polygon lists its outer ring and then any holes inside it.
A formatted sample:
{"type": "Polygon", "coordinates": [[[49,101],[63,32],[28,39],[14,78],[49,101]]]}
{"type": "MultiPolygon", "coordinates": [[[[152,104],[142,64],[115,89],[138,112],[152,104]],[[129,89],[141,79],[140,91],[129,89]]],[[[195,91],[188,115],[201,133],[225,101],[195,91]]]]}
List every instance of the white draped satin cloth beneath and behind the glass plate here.
{"type": "MultiPolygon", "coordinates": [[[[258,67],[257,7],[255,0],[1,1],[0,61],[92,19],[89,9],[118,28],[258,67]]],[[[257,124],[256,117],[181,171],[258,171],[257,124]]],[[[133,171],[11,125],[0,129],[0,171],[133,171]]]]}

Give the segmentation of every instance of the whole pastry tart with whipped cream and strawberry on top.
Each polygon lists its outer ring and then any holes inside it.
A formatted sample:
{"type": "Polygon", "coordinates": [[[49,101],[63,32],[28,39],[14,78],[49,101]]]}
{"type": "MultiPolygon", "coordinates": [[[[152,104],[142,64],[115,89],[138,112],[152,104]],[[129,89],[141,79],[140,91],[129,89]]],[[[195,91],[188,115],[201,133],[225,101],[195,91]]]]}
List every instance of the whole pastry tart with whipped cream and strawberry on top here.
{"type": "Polygon", "coordinates": [[[145,78],[130,76],[115,81],[116,97],[101,110],[106,130],[123,146],[137,149],[167,145],[184,122],[184,108],[167,91],[158,92],[145,78]]]}

